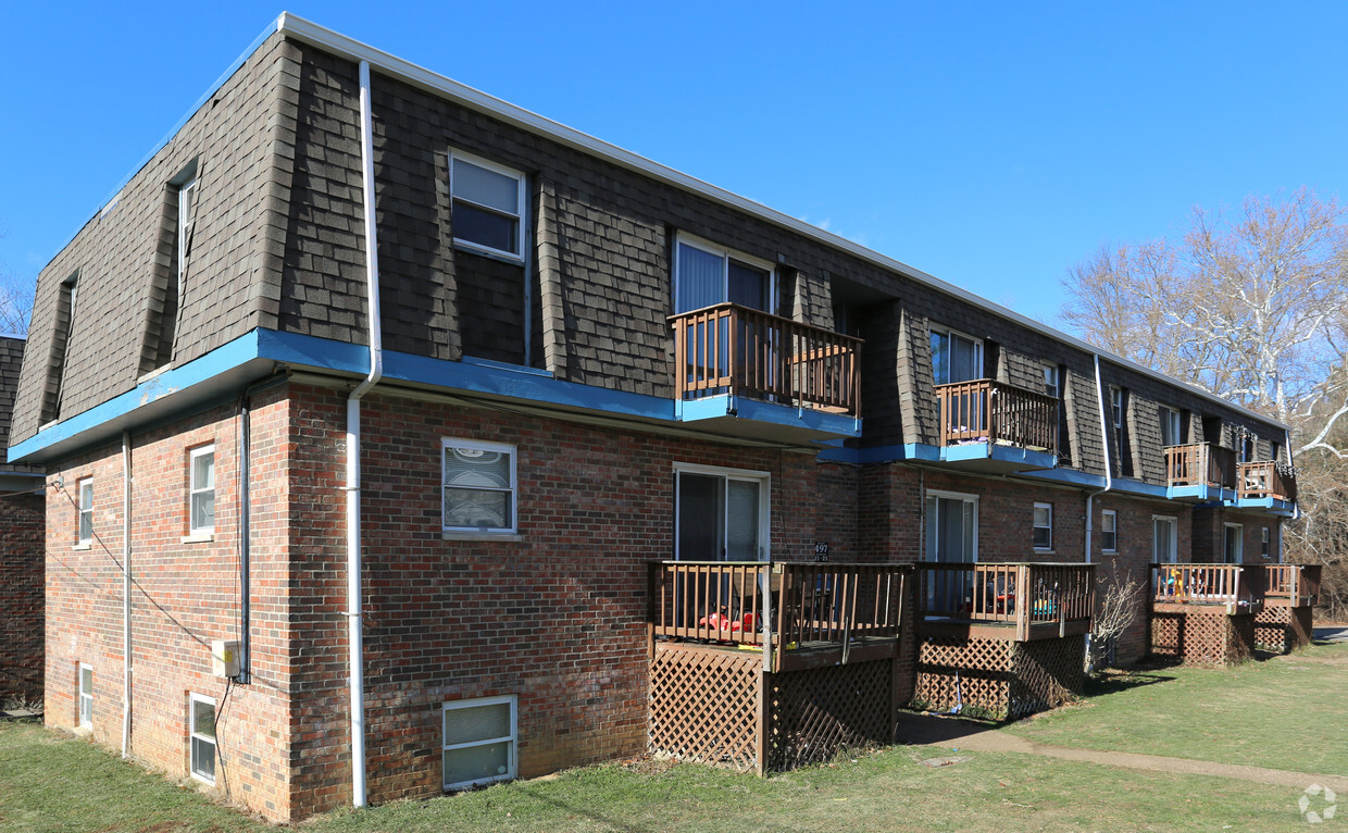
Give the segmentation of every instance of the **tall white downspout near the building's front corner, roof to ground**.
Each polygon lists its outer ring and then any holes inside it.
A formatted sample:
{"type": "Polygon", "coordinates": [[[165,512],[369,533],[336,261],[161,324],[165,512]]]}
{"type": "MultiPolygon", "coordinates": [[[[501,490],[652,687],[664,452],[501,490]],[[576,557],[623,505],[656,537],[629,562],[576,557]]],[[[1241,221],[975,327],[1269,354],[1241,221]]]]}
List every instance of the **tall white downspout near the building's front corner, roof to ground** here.
{"type": "Polygon", "coordinates": [[[369,62],[360,62],[360,160],[365,209],[365,309],[369,321],[369,375],[346,399],[346,643],[350,650],[350,802],[365,806],[365,662],[360,598],[360,398],[384,372],[379,325],[379,248],[375,235],[375,147],[369,62]]]}

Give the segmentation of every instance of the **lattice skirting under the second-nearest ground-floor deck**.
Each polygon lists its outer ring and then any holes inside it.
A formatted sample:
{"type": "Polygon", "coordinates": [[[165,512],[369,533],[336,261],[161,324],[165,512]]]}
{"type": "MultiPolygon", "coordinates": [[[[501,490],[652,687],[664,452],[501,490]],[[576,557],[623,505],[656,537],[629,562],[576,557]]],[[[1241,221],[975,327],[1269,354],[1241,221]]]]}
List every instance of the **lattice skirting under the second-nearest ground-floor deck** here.
{"type": "Polygon", "coordinates": [[[1085,683],[1085,636],[1014,642],[927,636],[918,646],[914,705],[956,704],[1007,720],[1062,705],[1085,683]]]}

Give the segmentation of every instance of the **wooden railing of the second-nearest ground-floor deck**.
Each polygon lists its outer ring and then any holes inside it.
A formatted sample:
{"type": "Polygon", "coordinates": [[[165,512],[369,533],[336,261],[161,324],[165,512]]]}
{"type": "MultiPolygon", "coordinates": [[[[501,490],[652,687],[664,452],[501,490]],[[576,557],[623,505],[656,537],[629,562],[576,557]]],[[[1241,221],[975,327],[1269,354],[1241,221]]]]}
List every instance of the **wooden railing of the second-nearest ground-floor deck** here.
{"type": "Polygon", "coordinates": [[[1031,627],[1086,623],[1095,611],[1095,565],[940,563],[917,565],[922,619],[1015,625],[1016,639],[1031,627]]]}

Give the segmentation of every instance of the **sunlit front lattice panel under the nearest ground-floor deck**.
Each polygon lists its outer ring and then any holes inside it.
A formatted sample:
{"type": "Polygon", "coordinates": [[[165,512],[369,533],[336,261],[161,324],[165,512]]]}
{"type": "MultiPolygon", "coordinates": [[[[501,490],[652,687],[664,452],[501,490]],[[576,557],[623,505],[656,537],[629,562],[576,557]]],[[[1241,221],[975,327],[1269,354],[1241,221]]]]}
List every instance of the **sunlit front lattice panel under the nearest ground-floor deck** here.
{"type": "Polygon", "coordinates": [[[760,654],[656,651],[651,660],[651,751],[758,767],[760,654]]]}

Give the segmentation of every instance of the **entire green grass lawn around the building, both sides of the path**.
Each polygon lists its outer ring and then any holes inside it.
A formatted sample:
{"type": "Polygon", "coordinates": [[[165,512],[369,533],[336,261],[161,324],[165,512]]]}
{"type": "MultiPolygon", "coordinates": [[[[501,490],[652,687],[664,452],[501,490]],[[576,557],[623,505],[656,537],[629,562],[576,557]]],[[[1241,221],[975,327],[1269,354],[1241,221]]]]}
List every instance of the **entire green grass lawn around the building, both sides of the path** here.
{"type": "MultiPolygon", "coordinates": [[[[1082,705],[1003,731],[1060,745],[1345,771],[1348,701],[1340,691],[1348,682],[1348,644],[1235,670],[1146,673],[1134,682],[1147,685],[1116,685],[1082,705]]],[[[1305,830],[1299,797],[1295,789],[1223,778],[900,745],[766,780],[658,762],[588,767],[434,801],[333,813],[299,829],[1305,830]],[[967,760],[921,763],[952,756],[967,760]]],[[[0,722],[0,830],[275,828],[85,740],[32,722],[0,722]]]]}

